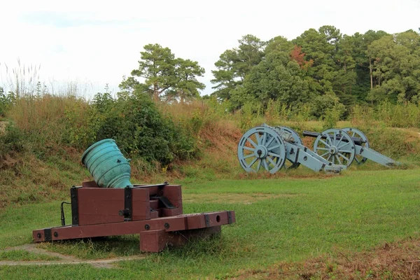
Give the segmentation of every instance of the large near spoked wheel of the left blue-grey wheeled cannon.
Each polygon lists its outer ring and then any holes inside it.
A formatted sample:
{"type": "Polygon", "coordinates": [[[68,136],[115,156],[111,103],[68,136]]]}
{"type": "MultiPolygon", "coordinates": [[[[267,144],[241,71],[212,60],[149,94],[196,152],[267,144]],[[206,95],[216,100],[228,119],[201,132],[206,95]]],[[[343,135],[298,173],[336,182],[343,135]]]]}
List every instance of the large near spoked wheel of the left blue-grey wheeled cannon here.
{"type": "Polygon", "coordinates": [[[286,160],[286,146],[279,134],[269,127],[253,127],[238,144],[238,159],[246,172],[265,169],[274,174],[286,160]]]}

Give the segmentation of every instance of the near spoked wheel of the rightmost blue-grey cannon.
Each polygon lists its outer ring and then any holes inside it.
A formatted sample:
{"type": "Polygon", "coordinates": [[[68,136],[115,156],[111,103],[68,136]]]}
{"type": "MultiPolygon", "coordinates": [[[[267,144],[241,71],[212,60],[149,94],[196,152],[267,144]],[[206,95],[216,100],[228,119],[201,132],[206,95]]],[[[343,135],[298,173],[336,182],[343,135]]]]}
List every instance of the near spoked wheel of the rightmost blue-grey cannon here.
{"type": "Polygon", "coordinates": [[[333,165],[350,166],[356,155],[353,139],[344,130],[325,130],[314,142],[314,152],[333,165]],[[326,137],[326,139],[323,139],[326,137]]]}

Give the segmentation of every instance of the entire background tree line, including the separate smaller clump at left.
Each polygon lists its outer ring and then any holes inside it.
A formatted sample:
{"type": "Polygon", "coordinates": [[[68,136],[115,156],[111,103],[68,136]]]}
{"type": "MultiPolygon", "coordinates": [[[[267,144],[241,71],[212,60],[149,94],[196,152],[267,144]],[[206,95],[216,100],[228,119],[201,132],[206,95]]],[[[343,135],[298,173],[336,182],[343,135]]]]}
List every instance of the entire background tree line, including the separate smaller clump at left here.
{"type": "MultiPolygon", "coordinates": [[[[325,25],[291,41],[283,36],[262,41],[248,34],[238,43],[220,55],[211,80],[211,95],[230,102],[232,110],[274,100],[294,107],[311,104],[316,116],[331,106],[420,100],[417,31],[349,36],[325,25]]],[[[120,94],[139,90],[154,99],[184,102],[204,89],[197,80],[204,74],[198,62],[176,58],[158,44],[144,46],[139,68],[131,74],[120,84],[120,94]]]]}

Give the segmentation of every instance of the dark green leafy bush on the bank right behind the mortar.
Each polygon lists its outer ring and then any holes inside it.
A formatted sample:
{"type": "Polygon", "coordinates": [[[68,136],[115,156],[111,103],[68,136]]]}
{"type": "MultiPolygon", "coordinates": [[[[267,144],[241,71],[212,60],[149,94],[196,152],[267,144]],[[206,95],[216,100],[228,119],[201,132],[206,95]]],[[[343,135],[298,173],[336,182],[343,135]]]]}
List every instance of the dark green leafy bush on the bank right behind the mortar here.
{"type": "Polygon", "coordinates": [[[109,93],[96,94],[88,125],[85,130],[93,137],[88,144],[112,138],[123,153],[147,162],[166,166],[197,152],[194,138],[187,137],[181,127],[164,118],[151,98],[142,92],[118,99],[109,93]]]}

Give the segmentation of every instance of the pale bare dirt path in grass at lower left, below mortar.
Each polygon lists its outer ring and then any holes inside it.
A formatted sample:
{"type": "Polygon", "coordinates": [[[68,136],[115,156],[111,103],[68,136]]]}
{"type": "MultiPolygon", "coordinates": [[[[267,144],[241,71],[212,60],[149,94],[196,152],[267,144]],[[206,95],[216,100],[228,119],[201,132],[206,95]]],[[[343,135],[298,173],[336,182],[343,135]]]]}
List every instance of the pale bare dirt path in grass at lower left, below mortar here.
{"type": "Polygon", "coordinates": [[[137,255],[132,257],[109,258],[106,260],[80,260],[79,258],[71,255],[62,255],[60,253],[50,252],[41,248],[36,248],[36,244],[27,244],[13,248],[6,248],[1,251],[15,251],[25,250],[31,253],[38,253],[49,255],[51,257],[59,258],[59,260],[0,260],[0,265],[80,265],[89,264],[97,268],[115,268],[113,262],[121,260],[141,260],[144,255],[137,255]]]}

